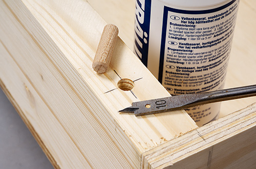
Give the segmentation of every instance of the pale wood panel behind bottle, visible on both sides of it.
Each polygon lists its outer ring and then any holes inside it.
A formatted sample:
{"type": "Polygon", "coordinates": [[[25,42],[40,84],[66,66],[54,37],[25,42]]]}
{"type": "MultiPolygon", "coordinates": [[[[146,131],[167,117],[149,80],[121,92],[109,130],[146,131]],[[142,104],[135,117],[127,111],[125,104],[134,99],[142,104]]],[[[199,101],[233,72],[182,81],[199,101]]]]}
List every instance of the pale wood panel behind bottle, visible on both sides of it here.
{"type": "MultiPolygon", "coordinates": [[[[108,23],[118,25],[121,33],[120,37],[133,50],[136,1],[88,0],[88,2],[108,23]]],[[[254,78],[254,72],[256,72],[254,50],[256,44],[255,16],[256,2],[253,0],[241,0],[226,75],[224,87],[226,89],[256,84],[256,78],[254,78]]],[[[245,98],[223,102],[220,117],[242,109],[255,101],[255,98],[245,98]]]]}

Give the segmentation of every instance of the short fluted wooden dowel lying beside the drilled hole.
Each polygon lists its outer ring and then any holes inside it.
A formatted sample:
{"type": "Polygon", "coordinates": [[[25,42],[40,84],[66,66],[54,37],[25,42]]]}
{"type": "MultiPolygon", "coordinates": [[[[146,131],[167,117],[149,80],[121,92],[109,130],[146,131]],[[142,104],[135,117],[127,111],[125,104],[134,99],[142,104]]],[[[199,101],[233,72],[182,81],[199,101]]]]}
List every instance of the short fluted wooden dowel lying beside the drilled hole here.
{"type": "Polygon", "coordinates": [[[105,25],[92,65],[97,73],[104,73],[108,69],[117,36],[118,28],[116,25],[105,25]]]}

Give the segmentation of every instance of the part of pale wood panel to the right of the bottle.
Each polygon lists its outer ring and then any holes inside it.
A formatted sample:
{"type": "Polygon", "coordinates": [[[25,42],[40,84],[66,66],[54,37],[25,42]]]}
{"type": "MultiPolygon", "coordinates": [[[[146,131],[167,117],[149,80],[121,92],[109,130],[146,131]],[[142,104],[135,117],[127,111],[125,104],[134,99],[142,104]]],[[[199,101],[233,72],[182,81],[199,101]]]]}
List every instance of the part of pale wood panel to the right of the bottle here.
{"type": "MultiPolygon", "coordinates": [[[[225,88],[256,84],[256,2],[241,0],[230,53],[225,88]]],[[[220,117],[242,109],[256,101],[255,97],[223,102],[220,117]]]]}

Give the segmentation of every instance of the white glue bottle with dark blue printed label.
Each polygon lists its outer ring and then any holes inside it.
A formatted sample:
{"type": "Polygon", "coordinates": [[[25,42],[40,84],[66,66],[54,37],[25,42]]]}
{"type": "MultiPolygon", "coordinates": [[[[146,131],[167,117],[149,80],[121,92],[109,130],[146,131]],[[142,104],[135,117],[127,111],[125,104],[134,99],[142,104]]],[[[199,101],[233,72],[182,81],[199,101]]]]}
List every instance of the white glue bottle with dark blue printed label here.
{"type": "MultiPolygon", "coordinates": [[[[134,52],[171,95],[220,90],[239,0],[136,0],[134,52]]],[[[202,126],[220,103],[186,109],[202,126]]]]}

